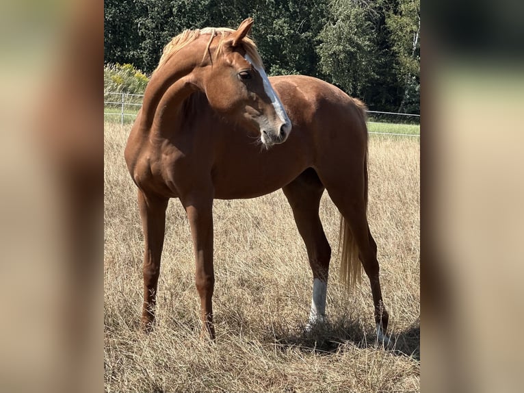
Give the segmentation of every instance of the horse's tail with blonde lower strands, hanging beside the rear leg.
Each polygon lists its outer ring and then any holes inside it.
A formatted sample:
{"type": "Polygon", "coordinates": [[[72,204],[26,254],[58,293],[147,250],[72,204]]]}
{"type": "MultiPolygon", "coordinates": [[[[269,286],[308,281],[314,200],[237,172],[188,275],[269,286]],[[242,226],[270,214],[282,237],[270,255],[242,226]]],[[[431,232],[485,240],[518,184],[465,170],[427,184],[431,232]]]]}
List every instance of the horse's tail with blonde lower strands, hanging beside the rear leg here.
{"type": "MultiPolygon", "coordinates": [[[[365,154],[364,154],[364,168],[363,168],[363,177],[364,177],[364,201],[367,214],[367,189],[368,189],[368,174],[367,174],[367,106],[365,103],[358,99],[352,98],[354,104],[358,109],[358,116],[361,119],[361,125],[365,131],[365,154]]],[[[346,292],[350,292],[357,284],[360,284],[362,281],[362,262],[358,257],[358,246],[356,244],[355,238],[351,231],[350,224],[347,220],[341,215],[340,216],[340,228],[339,228],[339,251],[341,252],[340,260],[340,281],[343,283],[343,286],[346,292]]]]}

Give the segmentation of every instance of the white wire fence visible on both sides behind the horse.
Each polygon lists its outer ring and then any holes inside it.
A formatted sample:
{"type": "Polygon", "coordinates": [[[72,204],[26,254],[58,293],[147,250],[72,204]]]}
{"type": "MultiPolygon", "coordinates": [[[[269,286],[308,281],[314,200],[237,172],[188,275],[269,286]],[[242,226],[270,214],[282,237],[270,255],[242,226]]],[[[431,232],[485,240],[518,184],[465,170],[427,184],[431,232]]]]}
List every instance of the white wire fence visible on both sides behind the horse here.
{"type": "MultiPolygon", "coordinates": [[[[105,116],[120,117],[120,124],[124,125],[134,121],[138,110],[142,106],[144,94],[130,94],[124,92],[104,92],[104,118],[105,116]]],[[[370,124],[384,125],[420,125],[419,114],[407,114],[397,112],[381,112],[368,110],[368,122],[370,124]]],[[[420,132],[416,134],[369,131],[369,134],[395,135],[395,136],[416,136],[420,137],[420,132]]]]}

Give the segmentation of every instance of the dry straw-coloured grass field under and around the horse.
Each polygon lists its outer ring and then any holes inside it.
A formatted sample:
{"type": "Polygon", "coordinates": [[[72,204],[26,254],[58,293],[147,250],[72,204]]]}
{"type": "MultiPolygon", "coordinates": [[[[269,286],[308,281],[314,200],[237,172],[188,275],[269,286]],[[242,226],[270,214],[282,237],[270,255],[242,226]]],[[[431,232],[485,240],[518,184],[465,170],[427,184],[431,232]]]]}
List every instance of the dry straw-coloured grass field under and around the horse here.
{"type": "Polygon", "coordinates": [[[339,212],[324,194],[333,249],[322,328],[304,333],[313,279],[281,191],[215,201],[217,341],[200,340],[185,212],[170,201],[157,325],[138,333],[142,229],[123,160],[131,125],[105,123],[104,344],[106,392],[418,392],[420,390],[419,138],[371,136],[369,222],[395,349],[375,343],[367,279],[338,282],[339,212]]]}

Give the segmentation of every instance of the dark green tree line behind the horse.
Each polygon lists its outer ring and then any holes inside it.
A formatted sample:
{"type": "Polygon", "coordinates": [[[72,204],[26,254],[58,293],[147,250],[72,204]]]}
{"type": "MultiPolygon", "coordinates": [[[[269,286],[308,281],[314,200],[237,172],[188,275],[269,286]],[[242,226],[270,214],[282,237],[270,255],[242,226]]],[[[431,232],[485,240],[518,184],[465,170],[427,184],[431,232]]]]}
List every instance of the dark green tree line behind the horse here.
{"type": "Polygon", "coordinates": [[[150,73],[184,29],[236,28],[252,16],[269,75],[311,75],[371,110],[420,112],[420,0],[104,0],[104,7],[106,64],[150,73]]]}

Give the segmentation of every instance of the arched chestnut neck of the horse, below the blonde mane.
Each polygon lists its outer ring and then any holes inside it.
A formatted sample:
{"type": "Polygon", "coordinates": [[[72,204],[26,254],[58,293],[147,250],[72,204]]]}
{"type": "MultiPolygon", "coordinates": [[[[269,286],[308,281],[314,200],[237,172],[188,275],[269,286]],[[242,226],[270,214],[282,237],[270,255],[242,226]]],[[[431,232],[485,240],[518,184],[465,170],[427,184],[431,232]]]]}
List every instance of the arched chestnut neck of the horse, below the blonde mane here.
{"type": "Polygon", "coordinates": [[[188,45],[172,57],[159,70],[153,73],[144,94],[142,103],[142,129],[163,134],[172,132],[177,121],[181,120],[181,108],[186,99],[201,90],[196,69],[201,70],[200,62],[204,49],[200,45],[188,45]],[[168,125],[168,127],[166,127],[168,125]]]}

